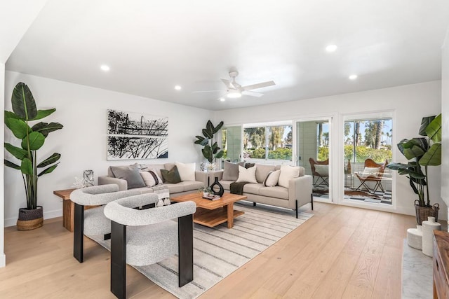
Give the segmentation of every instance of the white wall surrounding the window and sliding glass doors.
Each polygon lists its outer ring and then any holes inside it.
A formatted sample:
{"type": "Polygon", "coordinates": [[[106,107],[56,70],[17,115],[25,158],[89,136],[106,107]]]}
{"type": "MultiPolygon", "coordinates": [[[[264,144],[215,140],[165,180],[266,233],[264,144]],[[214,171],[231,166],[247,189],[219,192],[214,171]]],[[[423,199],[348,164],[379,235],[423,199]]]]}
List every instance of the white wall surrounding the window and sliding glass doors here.
{"type": "MultiPolygon", "coordinates": [[[[241,99],[242,101],[244,99],[241,99]]],[[[346,95],[304,99],[293,102],[256,106],[245,109],[217,111],[215,120],[223,120],[226,124],[261,123],[264,121],[295,120],[332,116],[332,163],[333,198],[342,202],[343,185],[343,116],[370,111],[394,111],[394,138],[396,144],[400,139],[417,137],[423,116],[436,115],[441,112],[441,82],[433,81],[395,88],[384,88],[366,92],[355,92],[346,95]]],[[[395,148],[395,162],[406,162],[406,158],[395,148]]],[[[384,209],[401,214],[415,214],[413,202],[416,198],[408,179],[396,176],[396,204],[394,207],[381,208],[372,205],[373,209],[384,209]]],[[[430,174],[431,203],[441,205],[440,218],[447,219],[448,209],[441,200],[441,167],[431,167],[430,174]]],[[[356,205],[356,204],[353,204],[356,205]]]]}

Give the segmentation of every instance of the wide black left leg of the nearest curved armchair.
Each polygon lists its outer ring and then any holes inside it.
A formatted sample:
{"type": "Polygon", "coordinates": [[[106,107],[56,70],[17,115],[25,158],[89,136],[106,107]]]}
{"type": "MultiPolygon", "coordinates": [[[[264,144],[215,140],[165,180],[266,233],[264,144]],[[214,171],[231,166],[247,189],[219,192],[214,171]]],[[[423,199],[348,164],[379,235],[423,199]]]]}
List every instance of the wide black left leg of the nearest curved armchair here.
{"type": "Polygon", "coordinates": [[[126,225],[111,221],[111,292],[126,298],[126,225]]]}

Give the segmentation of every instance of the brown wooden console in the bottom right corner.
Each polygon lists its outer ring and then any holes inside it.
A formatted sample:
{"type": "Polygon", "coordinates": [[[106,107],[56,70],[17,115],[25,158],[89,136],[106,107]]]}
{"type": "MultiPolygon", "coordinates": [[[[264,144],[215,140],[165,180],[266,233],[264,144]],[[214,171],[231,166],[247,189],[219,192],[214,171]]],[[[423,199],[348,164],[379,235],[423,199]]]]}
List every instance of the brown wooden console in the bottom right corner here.
{"type": "Polygon", "coordinates": [[[434,230],[434,298],[449,298],[449,233],[434,230]]]}

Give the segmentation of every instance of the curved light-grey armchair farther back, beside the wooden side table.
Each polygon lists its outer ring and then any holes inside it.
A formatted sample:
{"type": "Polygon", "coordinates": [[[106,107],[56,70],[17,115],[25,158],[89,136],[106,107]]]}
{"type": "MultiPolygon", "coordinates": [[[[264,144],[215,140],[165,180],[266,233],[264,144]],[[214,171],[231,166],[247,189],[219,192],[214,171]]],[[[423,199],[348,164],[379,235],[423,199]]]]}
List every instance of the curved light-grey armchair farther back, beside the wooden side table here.
{"type": "Polygon", "coordinates": [[[76,189],[70,194],[75,205],[73,256],[83,263],[83,235],[104,235],[109,238],[111,221],[103,213],[105,204],[119,198],[142,194],[141,190],[119,191],[115,184],[76,189]],[[100,206],[86,209],[85,206],[100,206]]]}

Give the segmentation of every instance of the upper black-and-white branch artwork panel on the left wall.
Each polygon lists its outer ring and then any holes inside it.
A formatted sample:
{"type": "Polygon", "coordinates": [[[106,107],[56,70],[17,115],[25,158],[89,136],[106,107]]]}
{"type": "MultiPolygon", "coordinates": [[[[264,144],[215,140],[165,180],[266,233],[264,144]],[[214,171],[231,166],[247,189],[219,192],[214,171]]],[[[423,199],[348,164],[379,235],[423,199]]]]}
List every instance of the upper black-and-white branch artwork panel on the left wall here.
{"type": "Polygon", "coordinates": [[[168,136],[168,117],[107,110],[107,134],[168,136]]]}

